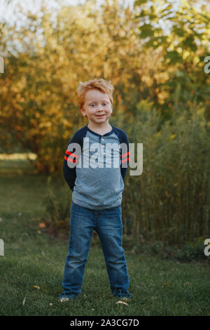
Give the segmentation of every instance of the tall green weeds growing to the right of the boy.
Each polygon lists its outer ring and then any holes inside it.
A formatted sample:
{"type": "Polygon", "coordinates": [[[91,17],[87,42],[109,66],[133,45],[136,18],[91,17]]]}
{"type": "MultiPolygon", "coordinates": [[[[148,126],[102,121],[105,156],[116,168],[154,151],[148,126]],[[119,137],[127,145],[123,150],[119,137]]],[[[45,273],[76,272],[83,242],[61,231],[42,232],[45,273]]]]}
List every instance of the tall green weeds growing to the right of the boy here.
{"type": "Polygon", "coordinates": [[[204,112],[192,107],[161,124],[157,111],[142,102],[134,117],[124,127],[130,143],[143,143],[143,173],[127,172],[125,234],[167,244],[210,237],[210,137],[204,112]]]}

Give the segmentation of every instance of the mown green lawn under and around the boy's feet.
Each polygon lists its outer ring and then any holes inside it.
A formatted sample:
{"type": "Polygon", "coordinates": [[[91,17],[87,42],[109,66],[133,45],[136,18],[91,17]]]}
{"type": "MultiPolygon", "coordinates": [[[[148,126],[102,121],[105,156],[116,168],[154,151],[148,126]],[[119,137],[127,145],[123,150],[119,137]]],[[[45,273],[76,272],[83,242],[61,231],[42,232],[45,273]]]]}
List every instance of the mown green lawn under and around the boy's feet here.
{"type": "MultiPolygon", "coordinates": [[[[55,237],[38,227],[38,217],[45,213],[47,178],[25,163],[16,168],[15,161],[7,167],[5,161],[0,163],[0,238],[5,246],[5,256],[0,256],[0,315],[210,315],[207,263],[136,255],[126,246],[134,296],[128,305],[116,304],[97,244],[90,249],[80,298],[59,303],[69,232],[62,230],[55,237]]],[[[67,200],[70,192],[62,176],[52,182],[67,200]]]]}

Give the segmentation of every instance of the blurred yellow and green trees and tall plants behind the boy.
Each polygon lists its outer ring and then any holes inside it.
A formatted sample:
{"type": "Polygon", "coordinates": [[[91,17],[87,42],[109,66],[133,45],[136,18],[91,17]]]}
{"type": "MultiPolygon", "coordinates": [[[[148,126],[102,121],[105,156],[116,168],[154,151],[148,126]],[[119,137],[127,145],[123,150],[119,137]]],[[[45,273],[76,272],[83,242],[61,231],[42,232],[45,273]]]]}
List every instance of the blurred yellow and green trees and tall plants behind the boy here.
{"type": "Polygon", "coordinates": [[[69,224],[62,164],[69,139],[87,124],[76,87],[111,80],[110,123],[144,148],[143,173],[130,176],[129,169],[125,179],[124,235],[138,244],[203,244],[210,237],[209,3],[57,4],[50,10],[42,1],[36,14],[19,4],[13,22],[1,18],[2,175],[13,173],[11,154],[25,154],[30,171],[21,162],[20,173],[48,183],[42,222],[57,230],[69,224]]]}

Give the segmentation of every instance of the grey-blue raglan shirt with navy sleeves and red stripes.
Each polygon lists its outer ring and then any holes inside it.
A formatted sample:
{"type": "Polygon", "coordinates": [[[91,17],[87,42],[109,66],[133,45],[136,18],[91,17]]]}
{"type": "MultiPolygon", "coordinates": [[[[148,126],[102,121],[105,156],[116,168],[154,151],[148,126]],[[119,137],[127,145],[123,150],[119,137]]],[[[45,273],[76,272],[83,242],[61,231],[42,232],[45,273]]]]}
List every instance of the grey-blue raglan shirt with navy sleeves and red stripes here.
{"type": "Polygon", "coordinates": [[[87,209],[120,206],[129,164],[127,134],[120,128],[103,136],[84,126],[69,141],[63,173],[72,201],[87,209]]]}

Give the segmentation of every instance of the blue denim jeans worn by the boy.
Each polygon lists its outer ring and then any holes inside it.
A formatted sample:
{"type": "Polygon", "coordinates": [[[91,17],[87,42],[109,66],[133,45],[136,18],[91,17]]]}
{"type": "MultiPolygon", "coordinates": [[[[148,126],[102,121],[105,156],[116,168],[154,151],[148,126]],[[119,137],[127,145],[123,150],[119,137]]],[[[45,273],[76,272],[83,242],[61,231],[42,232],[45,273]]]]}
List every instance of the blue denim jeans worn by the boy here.
{"type": "Polygon", "coordinates": [[[74,298],[81,292],[92,231],[102,245],[113,296],[131,298],[130,281],[123,243],[121,205],[113,209],[92,210],[71,202],[69,252],[66,256],[60,298],[74,298]]]}

